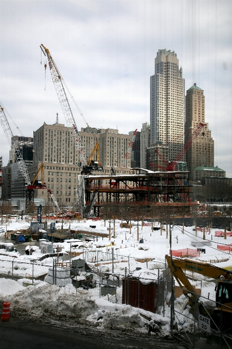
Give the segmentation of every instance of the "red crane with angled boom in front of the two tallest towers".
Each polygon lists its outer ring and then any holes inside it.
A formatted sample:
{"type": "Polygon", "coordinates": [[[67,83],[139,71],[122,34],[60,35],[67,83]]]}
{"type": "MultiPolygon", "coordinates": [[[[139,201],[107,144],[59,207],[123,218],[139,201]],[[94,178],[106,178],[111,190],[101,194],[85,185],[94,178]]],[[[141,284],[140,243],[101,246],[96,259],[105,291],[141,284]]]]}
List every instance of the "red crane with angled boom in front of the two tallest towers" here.
{"type": "MultiPolygon", "coordinates": [[[[187,150],[191,147],[192,143],[195,141],[195,139],[198,137],[198,135],[200,134],[202,128],[206,126],[206,124],[203,123],[199,123],[199,125],[197,126],[197,128],[195,129],[195,131],[193,132],[193,134],[191,135],[191,137],[189,137],[189,139],[187,140],[187,142],[184,144],[183,148],[180,150],[179,154],[177,155],[176,159],[174,161],[171,161],[170,163],[167,162],[162,155],[159,153],[159,151],[156,149],[156,153],[158,154],[158,157],[162,160],[162,162],[166,165],[166,166],[159,166],[156,164],[149,164],[149,166],[153,166],[153,167],[158,167],[160,169],[163,169],[165,171],[174,171],[176,166],[179,164],[179,162],[181,161],[181,159],[183,159],[184,154],[187,152],[187,150]]],[[[204,133],[204,132],[203,132],[204,133]]],[[[204,134],[203,134],[204,135],[204,134]]]]}

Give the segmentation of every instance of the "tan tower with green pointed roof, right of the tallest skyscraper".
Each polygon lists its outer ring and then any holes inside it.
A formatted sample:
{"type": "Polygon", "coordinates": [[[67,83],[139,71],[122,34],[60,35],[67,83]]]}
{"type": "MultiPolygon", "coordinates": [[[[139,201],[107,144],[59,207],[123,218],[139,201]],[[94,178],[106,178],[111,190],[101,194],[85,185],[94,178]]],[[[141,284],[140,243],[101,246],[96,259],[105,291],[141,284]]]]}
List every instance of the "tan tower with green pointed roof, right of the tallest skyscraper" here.
{"type": "MultiPolygon", "coordinates": [[[[199,123],[205,123],[204,91],[194,84],[185,97],[185,142],[191,137],[199,123]]],[[[199,166],[214,167],[214,140],[208,124],[204,126],[192,146],[186,152],[189,179],[194,180],[194,169],[199,166]]]]}

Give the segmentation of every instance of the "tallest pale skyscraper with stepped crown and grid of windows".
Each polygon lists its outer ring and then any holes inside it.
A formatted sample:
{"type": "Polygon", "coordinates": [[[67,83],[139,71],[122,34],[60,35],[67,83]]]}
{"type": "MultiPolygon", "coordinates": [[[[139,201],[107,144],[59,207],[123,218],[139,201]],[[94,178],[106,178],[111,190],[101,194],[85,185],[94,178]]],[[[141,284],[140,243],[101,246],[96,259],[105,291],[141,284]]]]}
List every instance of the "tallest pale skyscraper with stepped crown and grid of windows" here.
{"type": "Polygon", "coordinates": [[[176,158],[184,144],[184,88],[175,51],[158,50],[150,80],[151,145],[167,144],[169,160],[176,158]]]}

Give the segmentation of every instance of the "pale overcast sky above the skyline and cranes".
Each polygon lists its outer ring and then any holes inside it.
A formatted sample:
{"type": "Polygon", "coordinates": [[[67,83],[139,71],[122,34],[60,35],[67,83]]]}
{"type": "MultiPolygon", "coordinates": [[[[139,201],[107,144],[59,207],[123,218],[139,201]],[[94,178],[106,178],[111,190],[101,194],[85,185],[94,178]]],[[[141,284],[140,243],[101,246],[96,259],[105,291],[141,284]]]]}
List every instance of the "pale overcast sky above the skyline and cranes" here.
{"type": "MultiPolygon", "coordinates": [[[[2,0],[0,101],[27,137],[44,121],[55,123],[57,112],[65,123],[49,68],[45,90],[43,43],[90,126],[140,130],[150,122],[156,53],[174,50],[185,89],[196,83],[204,90],[215,165],[232,177],[231,10],[231,0],[2,0]]],[[[73,112],[80,130],[85,122],[73,112]]],[[[9,145],[0,126],[1,155],[5,166],[9,145]]]]}

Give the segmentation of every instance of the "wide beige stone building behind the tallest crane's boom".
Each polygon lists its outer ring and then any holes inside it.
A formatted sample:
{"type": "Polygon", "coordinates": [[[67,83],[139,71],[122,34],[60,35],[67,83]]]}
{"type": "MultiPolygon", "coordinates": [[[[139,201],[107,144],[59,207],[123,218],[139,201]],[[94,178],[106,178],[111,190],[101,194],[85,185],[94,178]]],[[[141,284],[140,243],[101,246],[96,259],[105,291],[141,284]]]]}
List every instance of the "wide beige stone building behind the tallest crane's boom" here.
{"type": "MultiPolygon", "coordinates": [[[[119,172],[124,153],[128,148],[130,136],[119,134],[114,129],[81,128],[79,132],[85,147],[86,157],[89,158],[96,142],[100,142],[100,161],[103,165],[102,175],[110,175],[111,167],[116,173],[119,172]]],[[[48,125],[44,123],[34,131],[34,159],[33,165],[28,167],[30,179],[32,180],[41,164],[44,162],[44,181],[47,188],[53,191],[58,204],[65,203],[75,205],[76,188],[78,186],[78,175],[81,167],[78,166],[78,154],[73,144],[72,132],[64,124],[55,123],[48,125]]],[[[130,159],[128,160],[125,173],[131,173],[130,159]]],[[[93,172],[99,175],[99,172],[93,172]]],[[[103,184],[103,183],[102,183],[103,184]]],[[[35,198],[51,201],[47,190],[35,190],[35,198]]]]}

